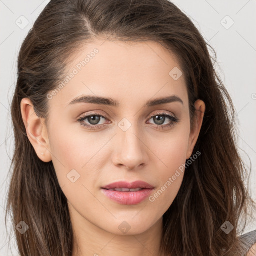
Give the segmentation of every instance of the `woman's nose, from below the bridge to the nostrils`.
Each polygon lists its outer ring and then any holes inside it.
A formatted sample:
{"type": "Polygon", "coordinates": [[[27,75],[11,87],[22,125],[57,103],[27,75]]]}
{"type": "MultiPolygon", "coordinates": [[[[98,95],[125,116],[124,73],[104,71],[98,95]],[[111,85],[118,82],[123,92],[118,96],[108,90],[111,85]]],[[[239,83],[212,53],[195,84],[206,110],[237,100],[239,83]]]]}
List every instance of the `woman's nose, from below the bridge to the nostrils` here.
{"type": "Polygon", "coordinates": [[[133,126],[126,131],[121,129],[117,131],[112,155],[115,166],[124,166],[132,170],[148,164],[148,149],[145,138],[141,134],[133,126]]]}

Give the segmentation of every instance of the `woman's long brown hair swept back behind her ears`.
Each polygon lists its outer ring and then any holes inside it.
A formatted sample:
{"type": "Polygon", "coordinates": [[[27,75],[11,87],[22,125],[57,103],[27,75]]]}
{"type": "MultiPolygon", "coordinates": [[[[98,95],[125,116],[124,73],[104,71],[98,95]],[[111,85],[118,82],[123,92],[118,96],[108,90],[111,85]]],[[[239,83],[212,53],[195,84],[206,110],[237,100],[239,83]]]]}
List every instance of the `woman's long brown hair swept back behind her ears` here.
{"type": "Polygon", "coordinates": [[[29,226],[24,234],[14,229],[20,255],[71,256],[73,249],[67,199],[52,161],[41,161],[28,140],[21,99],[30,98],[37,116],[47,120],[47,93],[63,79],[72,53],[97,36],[160,43],[182,68],[191,126],[193,103],[201,99],[206,105],[194,148],[201,155],[186,168],[179,192],[163,215],[162,250],[171,256],[233,256],[248,206],[254,203],[237,150],[234,106],[214,69],[214,49],[168,0],[51,0],[24,39],[11,103],[15,148],[7,200],[13,225],[24,221],[29,226]],[[225,221],[234,226],[229,234],[221,229],[225,221]]]}

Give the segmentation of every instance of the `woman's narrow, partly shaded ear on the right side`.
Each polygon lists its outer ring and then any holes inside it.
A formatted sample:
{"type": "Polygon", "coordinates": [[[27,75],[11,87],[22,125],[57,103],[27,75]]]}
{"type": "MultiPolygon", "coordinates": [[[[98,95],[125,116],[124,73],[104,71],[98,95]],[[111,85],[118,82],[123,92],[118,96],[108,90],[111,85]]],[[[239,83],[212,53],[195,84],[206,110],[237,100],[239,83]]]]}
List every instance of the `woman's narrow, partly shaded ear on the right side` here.
{"type": "Polygon", "coordinates": [[[187,147],[187,153],[186,153],[186,159],[189,159],[192,155],[194,146],[196,144],[196,141],[198,139],[200,129],[202,126],[202,120],[205,112],[205,104],[202,100],[198,99],[194,103],[195,109],[196,109],[196,114],[194,118],[194,127],[190,131],[189,135],[189,142],[188,142],[188,147],[187,147]]]}

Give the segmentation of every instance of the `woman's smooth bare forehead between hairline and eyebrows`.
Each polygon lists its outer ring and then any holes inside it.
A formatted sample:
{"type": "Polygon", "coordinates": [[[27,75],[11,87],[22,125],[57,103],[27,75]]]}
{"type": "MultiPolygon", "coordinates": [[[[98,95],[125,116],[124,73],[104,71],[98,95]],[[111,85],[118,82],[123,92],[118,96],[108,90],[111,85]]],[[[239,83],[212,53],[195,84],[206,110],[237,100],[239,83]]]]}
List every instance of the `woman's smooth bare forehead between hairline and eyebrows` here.
{"type": "Polygon", "coordinates": [[[111,97],[123,103],[138,99],[144,103],[172,94],[187,100],[176,57],[157,42],[97,39],[79,47],[70,59],[61,89],[51,100],[61,107],[79,95],[111,97]]]}

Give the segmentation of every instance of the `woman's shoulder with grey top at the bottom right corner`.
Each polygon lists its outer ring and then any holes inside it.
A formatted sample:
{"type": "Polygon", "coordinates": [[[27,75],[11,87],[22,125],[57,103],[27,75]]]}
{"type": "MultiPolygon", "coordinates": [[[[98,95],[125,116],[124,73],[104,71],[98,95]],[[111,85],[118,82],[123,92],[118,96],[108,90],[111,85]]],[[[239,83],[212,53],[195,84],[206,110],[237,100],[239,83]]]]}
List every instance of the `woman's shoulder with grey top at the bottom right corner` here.
{"type": "Polygon", "coordinates": [[[239,236],[244,256],[256,256],[256,230],[239,236]]]}

